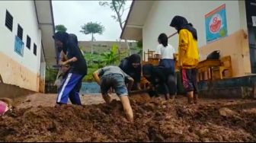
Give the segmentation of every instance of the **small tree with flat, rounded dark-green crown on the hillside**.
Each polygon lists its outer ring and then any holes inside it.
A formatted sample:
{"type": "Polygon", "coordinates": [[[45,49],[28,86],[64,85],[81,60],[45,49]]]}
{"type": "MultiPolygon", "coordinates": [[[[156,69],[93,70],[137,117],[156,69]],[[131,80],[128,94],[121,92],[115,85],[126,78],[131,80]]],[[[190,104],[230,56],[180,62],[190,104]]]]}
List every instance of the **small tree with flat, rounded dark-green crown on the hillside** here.
{"type": "MultiPolygon", "coordinates": [[[[85,35],[91,33],[91,42],[95,41],[94,33],[102,34],[105,30],[105,27],[101,25],[101,23],[97,22],[88,22],[87,24],[84,24],[81,26],[82,30],[80,30],[81,33],[85,33],[85,35]]],[[[91,55],[93,54],[92,44],[91,44],[91,55]]]]}

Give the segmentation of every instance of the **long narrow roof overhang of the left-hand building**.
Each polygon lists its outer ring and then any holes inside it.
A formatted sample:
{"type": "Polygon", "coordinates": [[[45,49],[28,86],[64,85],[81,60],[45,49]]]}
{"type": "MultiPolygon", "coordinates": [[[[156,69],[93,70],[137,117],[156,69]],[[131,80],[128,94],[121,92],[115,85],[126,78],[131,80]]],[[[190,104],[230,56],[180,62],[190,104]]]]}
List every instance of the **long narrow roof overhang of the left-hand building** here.
{"type": "Polygon", "coordinates": [[[56,65],[56,48],[53,40],[55,31],[51,0],[35,1],[37,22],[42,34],[43,56],[47,65],[56,65]]]}

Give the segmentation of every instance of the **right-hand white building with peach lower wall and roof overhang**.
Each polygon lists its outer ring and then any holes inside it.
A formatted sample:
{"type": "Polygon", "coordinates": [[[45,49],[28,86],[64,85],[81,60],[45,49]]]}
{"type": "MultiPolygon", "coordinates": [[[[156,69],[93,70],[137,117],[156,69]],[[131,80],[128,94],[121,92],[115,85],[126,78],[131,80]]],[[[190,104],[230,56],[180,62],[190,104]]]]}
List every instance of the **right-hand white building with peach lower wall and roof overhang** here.
{"type": "MultiPolygon", "coordinates": [[[[197,29],[201,60],[206,59],[209,52],[220,49],[221,56],[232,56],[234,76],[256,73],[256,0],[133,1],[120,37],[142,40],[143,52],[155,50],[160,33],[169,36],[177,32],[169,26],[175,15],[186,17],[197,29]],[[221,6],[225,7],[227,36],[207,43],[206,15],[221,6]]],[[[178,34],[168,43],[177,50],[178,34]]]]}

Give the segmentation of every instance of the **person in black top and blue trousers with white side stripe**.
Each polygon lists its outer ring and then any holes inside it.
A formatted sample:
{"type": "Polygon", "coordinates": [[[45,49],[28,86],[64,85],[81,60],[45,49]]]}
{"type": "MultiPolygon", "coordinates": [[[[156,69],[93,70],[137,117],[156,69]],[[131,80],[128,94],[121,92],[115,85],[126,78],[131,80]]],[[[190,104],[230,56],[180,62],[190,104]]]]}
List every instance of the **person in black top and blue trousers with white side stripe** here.
{"type": "Polygon", "coordinates": [[[79,91],[82,78],[87,75],[87,64],[81,50],[78,48],[77,37],[74,37],[74,35],[59,31],[53,36],[56,46],[61,47],[62,52],[68,58],[68,60],[61,62],[61,65],[70,65],[68,74],[59,88],[57,104],[66,104],[69,99],[72,104],[82,105],[79,91]]]}

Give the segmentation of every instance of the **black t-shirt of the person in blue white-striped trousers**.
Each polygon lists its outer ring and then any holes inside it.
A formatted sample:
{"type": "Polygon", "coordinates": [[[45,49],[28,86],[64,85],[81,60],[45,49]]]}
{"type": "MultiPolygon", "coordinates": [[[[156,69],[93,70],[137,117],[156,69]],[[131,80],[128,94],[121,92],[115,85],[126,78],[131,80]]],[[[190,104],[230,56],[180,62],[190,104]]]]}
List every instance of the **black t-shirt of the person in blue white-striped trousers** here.
{"type": "Polygon", "coordinates": [[[75,62],[70,62],[72,73],[77,73],[79,75],[87,75],[87,64],[81,50],[74,41],[69,41],[67,43],[67,56],[68,59],[75,57],[78,59],[75,62]]]}

